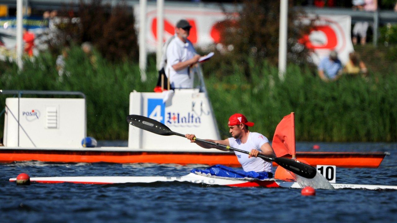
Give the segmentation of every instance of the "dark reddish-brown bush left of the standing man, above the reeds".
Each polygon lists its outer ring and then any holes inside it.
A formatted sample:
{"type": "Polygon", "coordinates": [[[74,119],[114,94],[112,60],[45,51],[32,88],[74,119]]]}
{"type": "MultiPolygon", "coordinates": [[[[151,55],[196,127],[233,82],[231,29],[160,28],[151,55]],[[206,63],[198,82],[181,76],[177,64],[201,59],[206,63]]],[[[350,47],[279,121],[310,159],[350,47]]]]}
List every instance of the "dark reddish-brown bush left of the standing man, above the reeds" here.
{"type": "Polygon", "coordinates": [[[88,41],[110,61],[138,61],[138,38],[131,7],[125,3],[112,7],[102,4],[101,0],[93,0],[89,4],[81,1],[76,15],[70,12],[64,10],[60,13],[71,21],[60,27],[64,31],[66,44],[88,41]],[[79,21],[73,22],[72,18],[76,17],[79,21]]]}

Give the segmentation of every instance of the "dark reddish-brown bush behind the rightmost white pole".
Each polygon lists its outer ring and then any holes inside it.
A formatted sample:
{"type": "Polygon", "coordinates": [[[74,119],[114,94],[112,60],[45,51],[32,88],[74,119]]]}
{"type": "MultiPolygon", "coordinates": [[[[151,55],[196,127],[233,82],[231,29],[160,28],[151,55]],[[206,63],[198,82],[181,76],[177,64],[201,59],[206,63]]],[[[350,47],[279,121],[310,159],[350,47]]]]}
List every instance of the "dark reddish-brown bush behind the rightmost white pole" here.
{"type": "MultiPolygon", "coordinates": [[[[262,65],[268,61],[270,65],[278,65],[279,48],[279,1],[243,0],[242,8],[236,12],[226,12],[228,19],[218,24],[221,30],[223,48],[223,64],[232,64],[247,77],[251,76],[249,61],[255,65],[262,65]],[[225,63],[226,62],[226,63],[225,63]]],[[[289,1],[288,34],[287,34],[287,60],[289,63],[303,64],[307,62],[308,50],[299,43],[304,34],[309,33],[311,23],[303,24],[299,18],[305,14],[303,11],[292,10],[292,1],[289,1]]],[[[224,67],[233,70],[233,66],[224,67]]],[[[226,70],[218,77],[225,75],[226,70]]]]}

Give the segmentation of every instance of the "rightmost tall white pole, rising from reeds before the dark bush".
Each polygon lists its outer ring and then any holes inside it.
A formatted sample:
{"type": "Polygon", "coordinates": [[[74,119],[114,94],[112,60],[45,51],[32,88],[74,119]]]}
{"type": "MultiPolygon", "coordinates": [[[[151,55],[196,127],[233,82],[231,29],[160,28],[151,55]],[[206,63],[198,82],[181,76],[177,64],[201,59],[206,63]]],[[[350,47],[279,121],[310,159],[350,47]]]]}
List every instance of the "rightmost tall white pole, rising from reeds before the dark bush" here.
{"type": "Polygon", "coordinates": [[[287,21],[288,0],[280,0],[280,26],[279,26],[279,48],[278,48],[278,76],[284,80],[285,68],[287,67],[287,21]]]}

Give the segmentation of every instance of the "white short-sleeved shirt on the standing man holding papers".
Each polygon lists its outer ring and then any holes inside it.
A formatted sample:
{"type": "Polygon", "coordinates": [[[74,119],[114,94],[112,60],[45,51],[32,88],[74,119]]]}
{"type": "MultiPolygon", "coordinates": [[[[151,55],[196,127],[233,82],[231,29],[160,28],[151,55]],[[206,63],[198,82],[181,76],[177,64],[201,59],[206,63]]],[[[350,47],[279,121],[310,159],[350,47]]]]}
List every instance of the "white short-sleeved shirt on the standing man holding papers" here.
{"type": "Polygon", "coordinates": [[[165,68],[166,75],[171,83],[171,87],[193,88],[193,73],[189,74],[189,69],[187,67],[185,69],[175,71],[172,66],[179,62],[190,60],[196,54],[196,50],[193,47],[192,42],[189,40],[187,40],[186,43],[184,43],[178,37],[171,40],[166,50],[167,65],[165,68]]]}

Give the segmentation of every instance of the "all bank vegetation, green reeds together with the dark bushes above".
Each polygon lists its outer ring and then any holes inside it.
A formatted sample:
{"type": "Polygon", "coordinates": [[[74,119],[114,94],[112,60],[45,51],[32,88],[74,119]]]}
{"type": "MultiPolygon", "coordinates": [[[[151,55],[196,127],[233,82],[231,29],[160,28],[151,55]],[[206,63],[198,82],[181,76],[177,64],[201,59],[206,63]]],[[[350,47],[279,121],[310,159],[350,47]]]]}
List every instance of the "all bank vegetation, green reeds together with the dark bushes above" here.
{"type": "MultiPolygon", "coordinates": [[[[256,123],[252,131],[272,138],[283,116],[295,112],[299,141],[397,141],[394,26],[381,30],[378,48],[370,44],[355,47],[368,67],[368,77],[324,83],[317,77],[316,67],[305,61],[307,50],[298,44],[310,25],[292,23],[304,13],[290,12],[290,64],[285,80],[280,81],[279,31],[274,25],[278,24],[279,4],[259,0],[242,3],[237,17],[231,13],[219,24],[224,48],[209,46],[216,56],[203,67],[222,137],[229,136],[226,123],[233,113],[244,113],[256,123]]],[[[75,16],[69,10],[60,14],[70,19],[75,16]]],[[[26,59],[23,69],[15,63],[0,62],[1,89],[81,91],[87,96],[87,135],[98,140],[127,139],[129,93],[153,91],[158,77],[154,56],[149,56],[148,80],[141,82],[134,16],[123,5],[109,11],[100,0],[81,2],[76,14],[80,25],[58,24],[63,35],[50,40],[59,44],[50,42],[48,52],[26,59]],[[95,46],[94,60],[79,47],[86,41],[95,46]],[[54,55],[69,46],[65,72],[60,76],[54,55]]],[[[2,108],[6,97],[0,94],[2,108]]],[[[0,120],[0,133],[3,125],[0,120]]]]}

